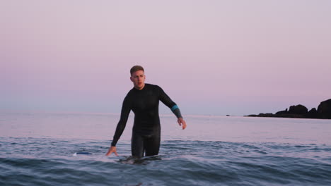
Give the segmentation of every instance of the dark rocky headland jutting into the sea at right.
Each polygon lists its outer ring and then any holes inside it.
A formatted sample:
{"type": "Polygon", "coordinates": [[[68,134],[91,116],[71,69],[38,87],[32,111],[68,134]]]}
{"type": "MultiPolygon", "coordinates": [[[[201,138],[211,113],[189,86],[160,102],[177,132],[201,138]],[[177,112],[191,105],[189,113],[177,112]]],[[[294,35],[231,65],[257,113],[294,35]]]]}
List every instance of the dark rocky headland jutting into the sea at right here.
{"type": "Polygon", "coordinates": [[[289,107],[289,110],[278,111],[277,113],[260,113],[258,115],[248,115],[250,117],[273,117],[273,118],[321,118],[331,119],[331,99],[322,101],[318,109],[310,109],[308,111],[306,106],[301,104],[289,107]]]}

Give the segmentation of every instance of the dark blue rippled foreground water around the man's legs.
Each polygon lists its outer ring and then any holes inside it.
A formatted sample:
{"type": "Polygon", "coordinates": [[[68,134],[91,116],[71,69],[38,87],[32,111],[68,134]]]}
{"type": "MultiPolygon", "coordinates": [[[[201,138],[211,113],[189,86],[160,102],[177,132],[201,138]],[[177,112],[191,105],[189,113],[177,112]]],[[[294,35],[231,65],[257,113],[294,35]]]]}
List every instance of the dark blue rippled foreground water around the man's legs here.
{"type": "Polygon", "coordinates": [[[104,141],[1,139],[0,185],[331,185],[324,144],[175,140],[142,159],[129,156],[126,142],[117,145],[121,156],[105,156],[108,148],[104,141]]]}

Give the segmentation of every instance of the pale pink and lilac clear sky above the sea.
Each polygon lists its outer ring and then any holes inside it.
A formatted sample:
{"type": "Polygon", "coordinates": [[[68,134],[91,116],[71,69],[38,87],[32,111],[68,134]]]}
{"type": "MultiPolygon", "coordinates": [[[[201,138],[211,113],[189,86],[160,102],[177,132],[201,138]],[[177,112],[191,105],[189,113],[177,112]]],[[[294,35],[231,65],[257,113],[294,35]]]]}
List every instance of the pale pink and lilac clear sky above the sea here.
{"type": "MultiPolygon", "coordinates": [[[[144,66],[185,115],[331,99],[331,1],[0,1],[0,111],[120,113],[144,66]]],[[[170,113],[161,104],[161,114],[170,113]]]]}

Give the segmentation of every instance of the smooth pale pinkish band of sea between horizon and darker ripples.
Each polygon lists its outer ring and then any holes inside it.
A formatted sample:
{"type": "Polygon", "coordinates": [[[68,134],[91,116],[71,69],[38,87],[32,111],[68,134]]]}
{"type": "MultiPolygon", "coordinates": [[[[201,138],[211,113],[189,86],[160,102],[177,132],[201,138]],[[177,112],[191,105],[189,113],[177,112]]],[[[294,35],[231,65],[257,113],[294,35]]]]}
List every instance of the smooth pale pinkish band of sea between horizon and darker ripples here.
{"type": "MultiPolygon", "coordinates": [[[[86,113],[0,113],[1,137],[112,140],[119,115],[86,113]]],[[[161,116],[161,140],[330,144],[331,120],[186,116],[181,130],[174,116],[161,116]]],[[[129,144],[133,118],[119,142],[129,144]]]]}

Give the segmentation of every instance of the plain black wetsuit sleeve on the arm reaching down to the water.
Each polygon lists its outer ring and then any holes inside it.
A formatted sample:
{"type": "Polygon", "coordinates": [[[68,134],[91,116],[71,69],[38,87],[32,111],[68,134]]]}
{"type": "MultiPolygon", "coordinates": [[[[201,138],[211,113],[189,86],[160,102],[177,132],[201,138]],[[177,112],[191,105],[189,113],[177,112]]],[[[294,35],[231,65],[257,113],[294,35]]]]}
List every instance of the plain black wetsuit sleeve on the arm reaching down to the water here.
{"type": "Polygon", "coordinates": [[[130,111],[131,111],[130,101],[129,101],[129,97],[127,95],[127,97],[124,98],[120,121],[117,124],[115,135],[112,139],[113,147],[116,147],[117,141],[120,139],[120,137],[124,131],[125,125],[127,125],[127,118],[129,118],[130,111]]]}

